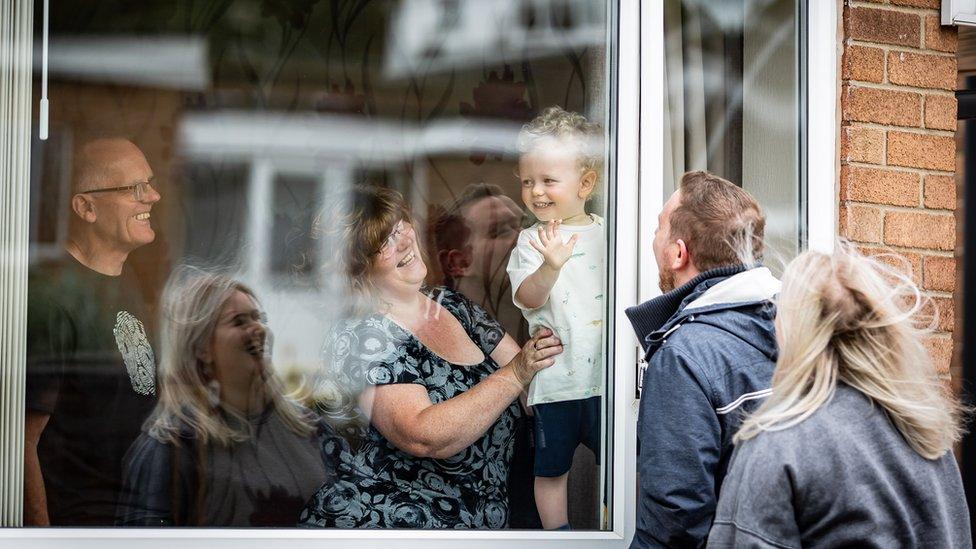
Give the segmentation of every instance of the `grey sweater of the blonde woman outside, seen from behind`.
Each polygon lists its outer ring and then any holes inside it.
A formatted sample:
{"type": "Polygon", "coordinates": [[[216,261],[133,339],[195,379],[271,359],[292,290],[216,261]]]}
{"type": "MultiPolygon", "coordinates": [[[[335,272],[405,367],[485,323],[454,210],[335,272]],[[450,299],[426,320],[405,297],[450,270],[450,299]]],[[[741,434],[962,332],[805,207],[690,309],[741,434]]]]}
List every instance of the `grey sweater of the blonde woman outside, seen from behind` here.
{"type": "Polygon", "coordinates": [[[708,547],[972,547],[951,452],[928,460],[840,384],[800,424],[739,444],[708,547]]]}

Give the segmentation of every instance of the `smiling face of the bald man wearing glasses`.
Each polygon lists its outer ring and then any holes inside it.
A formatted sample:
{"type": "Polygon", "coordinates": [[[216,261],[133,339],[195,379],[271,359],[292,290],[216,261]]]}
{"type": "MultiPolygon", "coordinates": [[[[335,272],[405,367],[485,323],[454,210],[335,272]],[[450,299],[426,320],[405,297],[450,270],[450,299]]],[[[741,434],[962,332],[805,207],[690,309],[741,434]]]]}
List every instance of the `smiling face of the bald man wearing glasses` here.
{"type": "MultiPolygon", "coordinates": [[[[152,179],[152,169],[138,147],[127,141],[107,147],[109,150],[99,155],[103,159],[100,161],[105,162],[104,173],[107,177],[102,178],[94,189],[125,187],[152,179]]],[[[87,196],[94,205],[94,233],[104,243],[116,249],[133,250],[156,238],[150,211],[161,197],[155,187],[150,187],[142,200],[136,200],[132,191],[87,196]]]]}

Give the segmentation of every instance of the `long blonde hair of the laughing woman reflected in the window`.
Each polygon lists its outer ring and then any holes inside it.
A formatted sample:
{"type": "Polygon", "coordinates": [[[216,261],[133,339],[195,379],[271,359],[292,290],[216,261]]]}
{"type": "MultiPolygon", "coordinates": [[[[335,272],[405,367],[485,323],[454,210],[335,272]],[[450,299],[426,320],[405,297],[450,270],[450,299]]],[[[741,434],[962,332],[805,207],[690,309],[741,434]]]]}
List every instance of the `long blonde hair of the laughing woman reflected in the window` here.
{"type": "MultiPolygon", "coordinates": [[[[160,319],[159,402],[146,421],[146,430],[153,438],[172,444],[192,438],[226,445],[251,436],[247,418],[211,402],[210,374],[198,358],[213,339],[224,303],[237,291],[258,303],[250,288],[222,274],[182,266],[170,276],[163,291],[160,319]]],[[[285,394],[273,368],[265,363],[259,374],[264,381],[265,402],[274,407],[285,425],[300,435],[311,433],[313,426],[306,409],[285,394]]]]}

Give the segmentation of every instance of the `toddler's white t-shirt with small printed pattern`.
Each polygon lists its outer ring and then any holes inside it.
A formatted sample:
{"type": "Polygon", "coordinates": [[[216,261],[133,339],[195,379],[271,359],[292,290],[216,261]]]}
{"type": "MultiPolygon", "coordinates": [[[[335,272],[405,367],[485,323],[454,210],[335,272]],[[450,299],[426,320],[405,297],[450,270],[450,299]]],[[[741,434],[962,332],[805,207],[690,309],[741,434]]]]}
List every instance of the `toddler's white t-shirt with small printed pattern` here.
{"type": "Polygon", "coordinates": [[[568,241],[579,235],[573,255],[559,271],[559,278],[541,307],[530,309],[515,293],[543,263],[542,254],[529,244],[539,241],[535,225],[519,233],[518,244],[508,260],[512,299],[529,322],[529,333],[539,326],[552,329],[563,343],[555,364],[536,374],[529,385],[529,405],[578,400],[603,394],[604,279],[606,276],[606,229],[603,218],[592,215],[589,225],[560,225],[559,236],[568,241]]]}

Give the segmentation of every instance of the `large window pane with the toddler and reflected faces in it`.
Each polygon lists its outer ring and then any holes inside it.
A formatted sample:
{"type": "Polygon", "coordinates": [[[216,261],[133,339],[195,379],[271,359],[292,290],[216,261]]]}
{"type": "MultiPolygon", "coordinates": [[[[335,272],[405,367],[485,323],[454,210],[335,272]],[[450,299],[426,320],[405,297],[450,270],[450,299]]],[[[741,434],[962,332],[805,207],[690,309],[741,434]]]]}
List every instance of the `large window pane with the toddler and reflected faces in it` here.
{"type": "Polygon", "coordinates": [[[609,12],[52,4],[25,523],[605,529],[609,12]]]}

